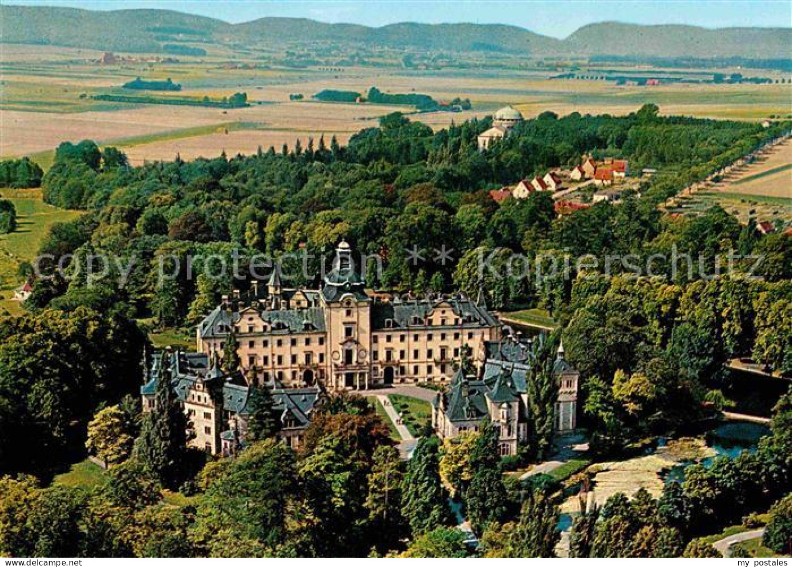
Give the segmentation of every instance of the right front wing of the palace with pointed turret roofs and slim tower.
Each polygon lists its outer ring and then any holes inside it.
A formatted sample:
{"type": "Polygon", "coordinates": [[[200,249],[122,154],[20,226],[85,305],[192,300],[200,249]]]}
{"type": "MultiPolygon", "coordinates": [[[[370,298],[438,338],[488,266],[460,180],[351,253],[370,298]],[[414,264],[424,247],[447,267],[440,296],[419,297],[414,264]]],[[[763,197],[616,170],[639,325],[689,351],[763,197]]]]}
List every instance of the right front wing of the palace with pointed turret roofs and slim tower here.
{"type": "MultiPolygon", "coordinates": [[[[538,339],[541,340],[541,339],[538,339]]],[[[527,440],[530,400],[527,380],[535,363],[535,346],[513,338],[488,342],[487,357],[478,379],[456,373],[454,380],[432,401],[432,426],[441,439],[478,431],[486,421],[498,428],[501,456],[517,455],[527,440]]],[[[569,433],[577,427],[577,388],[580,373],[565,360],[558,347],[553,367],[558,379],[554,429],[569,433]]]]}

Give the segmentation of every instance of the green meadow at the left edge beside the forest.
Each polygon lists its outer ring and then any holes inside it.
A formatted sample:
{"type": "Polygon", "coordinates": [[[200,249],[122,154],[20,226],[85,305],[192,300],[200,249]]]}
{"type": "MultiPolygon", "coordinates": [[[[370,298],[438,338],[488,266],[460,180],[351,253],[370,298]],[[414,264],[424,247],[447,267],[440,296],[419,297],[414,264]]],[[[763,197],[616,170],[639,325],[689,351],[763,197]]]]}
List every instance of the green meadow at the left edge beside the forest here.
{"type": "Polygon", "coordinates": [[[17,274],[19,263],[35,259],[51,225],[70,221],[81,213],[44,203],[37,189],[0,189],[0,198],[13,202],[18,224],[14,232],[0,236],[0,313],[5,310],[18,315],[21,306],[10,297],[13,297],[13,289],[24,283],[17,274]]]}

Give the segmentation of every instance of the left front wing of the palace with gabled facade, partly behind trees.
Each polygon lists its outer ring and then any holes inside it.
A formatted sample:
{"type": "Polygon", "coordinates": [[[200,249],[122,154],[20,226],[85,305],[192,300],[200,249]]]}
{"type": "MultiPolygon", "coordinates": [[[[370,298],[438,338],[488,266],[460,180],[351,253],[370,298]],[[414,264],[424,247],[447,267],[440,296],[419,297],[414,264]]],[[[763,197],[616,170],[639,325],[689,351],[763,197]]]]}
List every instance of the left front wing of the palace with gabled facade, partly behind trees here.
{"type": "MultiPolygon", "coordinates": [[[[170,380],[173,391],[187,414],[192,430],[191,447],[212,455],[232,455],[247,432],[251,386],[241,372],[226,375],[219,357],[205,353],[165,350],[147,362],[145,383],[140,388],[143,412],[156,410],[159,380],[170,380]]],[[[303,443],[303,433],[311,415],[326,398],[318,386],[284,388],[266,384],[280,418],[278,437],[291,448],[303,443]]]]}

